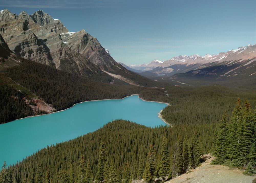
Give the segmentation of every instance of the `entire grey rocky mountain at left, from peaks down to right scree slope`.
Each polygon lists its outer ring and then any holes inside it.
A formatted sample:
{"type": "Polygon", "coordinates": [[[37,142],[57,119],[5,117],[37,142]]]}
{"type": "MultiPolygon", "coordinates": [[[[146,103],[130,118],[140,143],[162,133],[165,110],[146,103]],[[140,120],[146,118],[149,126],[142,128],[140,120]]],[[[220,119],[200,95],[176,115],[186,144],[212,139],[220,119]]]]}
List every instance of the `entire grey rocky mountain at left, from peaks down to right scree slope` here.
{"type": "Polygon", "coordinates": [[[109,51],[85,30],[70,32],[60,20],[42,10],[31,15],[1,10],[0,35],[0,69],[17,65],[20,58],[25,58],[103,82],[122,80],[145,86],[153,82],[115,62],[109,51]]]}

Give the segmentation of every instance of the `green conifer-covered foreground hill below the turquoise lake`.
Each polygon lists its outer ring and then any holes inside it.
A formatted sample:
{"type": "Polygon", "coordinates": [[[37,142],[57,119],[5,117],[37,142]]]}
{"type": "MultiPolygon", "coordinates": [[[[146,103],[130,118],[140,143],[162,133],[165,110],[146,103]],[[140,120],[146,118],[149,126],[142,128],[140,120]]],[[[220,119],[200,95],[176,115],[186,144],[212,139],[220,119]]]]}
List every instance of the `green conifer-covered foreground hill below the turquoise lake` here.
{"type": "MultiPolygon", "coordinates": [[[[180,132],[180,136],[186,135],[180,132]]],[[[130,182],[132,178],[172,177],[184,172],[185,166],[199,164],[197,135],[190,133],[192,138],[175,143],[176,134],[169,126],[150,128],[116,120],[95,132],[44,148],[8,171],[13,182],[130,182]],[[183,144],[188,159],[180,165],[176,157],[181,158],[183,144]]]]}

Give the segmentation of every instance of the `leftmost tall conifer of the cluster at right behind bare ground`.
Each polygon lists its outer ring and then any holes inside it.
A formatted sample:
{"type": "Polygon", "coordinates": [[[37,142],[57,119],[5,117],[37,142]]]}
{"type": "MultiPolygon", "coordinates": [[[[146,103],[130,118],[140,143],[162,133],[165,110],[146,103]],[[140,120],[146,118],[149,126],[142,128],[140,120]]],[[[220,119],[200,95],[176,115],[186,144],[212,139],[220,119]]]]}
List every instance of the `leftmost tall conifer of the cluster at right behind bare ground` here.
{"type": "Polygon", "coordinates": [[[222,115],[220,121],[216,143],[214,147],[214,154],[216,159],[212,161],[214,164],[223,164],[227,154],[227,114],[222,115]]]}

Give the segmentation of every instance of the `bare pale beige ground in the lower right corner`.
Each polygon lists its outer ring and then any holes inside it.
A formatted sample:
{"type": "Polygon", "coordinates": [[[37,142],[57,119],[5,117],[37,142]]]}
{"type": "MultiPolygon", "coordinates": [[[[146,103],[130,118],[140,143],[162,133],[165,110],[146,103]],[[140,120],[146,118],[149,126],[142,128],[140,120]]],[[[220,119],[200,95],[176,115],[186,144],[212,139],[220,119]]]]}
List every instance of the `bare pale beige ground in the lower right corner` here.
{"type": "Polygon", "coordinates": [[[223,165],[210,165],[210,162],[214,159],[211,157],[206,162],[202,163],[200,167],[197,167],[188,174],[183,174],[177,178],[174,178],[168,183],[192,183],[192,182],[207,182],[207,183],[251,183],[256,176],[247,176],[242,174],[242,170],[237,168],[229,169],[228,166],[223,165]]]}

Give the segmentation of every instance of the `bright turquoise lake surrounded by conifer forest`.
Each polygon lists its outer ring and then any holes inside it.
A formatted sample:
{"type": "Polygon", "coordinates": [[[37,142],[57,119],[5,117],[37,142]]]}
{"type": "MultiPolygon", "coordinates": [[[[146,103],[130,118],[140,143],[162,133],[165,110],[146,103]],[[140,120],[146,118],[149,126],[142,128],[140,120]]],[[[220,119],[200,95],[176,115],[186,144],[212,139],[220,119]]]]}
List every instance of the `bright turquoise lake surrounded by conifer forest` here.
{"type": "Polygon", "coordinates": [[[167,106],[147,102],[138,95],[124,99],[88,101],[47,115],[0,125],[0,164],[15,164],[47,145],[77,138],[104,124],[125,119],[150,127],[166,125],[158,113],[167,106]]]}

